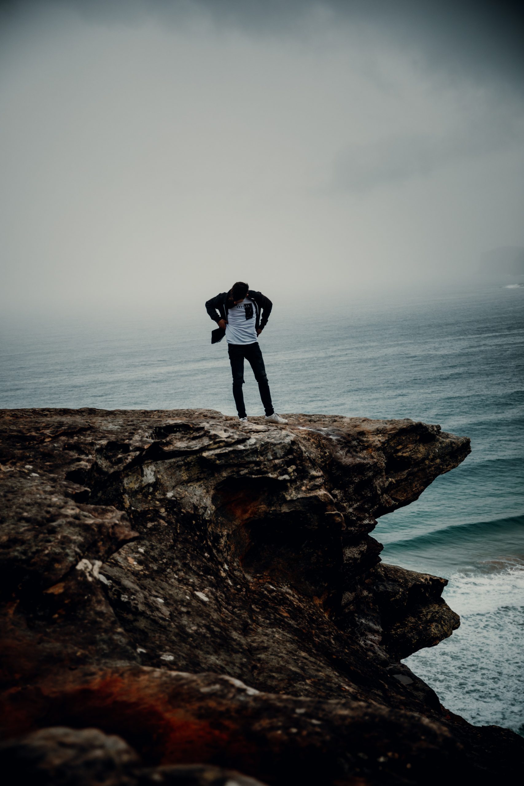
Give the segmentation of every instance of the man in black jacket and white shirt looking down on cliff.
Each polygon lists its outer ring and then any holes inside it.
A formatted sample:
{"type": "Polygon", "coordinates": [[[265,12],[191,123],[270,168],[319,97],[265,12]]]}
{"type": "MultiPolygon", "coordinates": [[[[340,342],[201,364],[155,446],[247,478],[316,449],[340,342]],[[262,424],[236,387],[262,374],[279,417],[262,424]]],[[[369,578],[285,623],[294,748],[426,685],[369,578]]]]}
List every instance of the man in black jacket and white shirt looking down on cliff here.
{"type": "Polygon", "coordinates": [[[233,373],[233,398],[241,423],[247,422],[244,405],[244,358],[251,365],[258,382],[260,398],[266,410],[266,421],[287,423],[277,415],[271,403],[271,393],[264,366],[264,358],[258,346],[258,336],[266,327],[273,303],[262,292],[250,290],[244,281],[236,281],[229,292],[220,292],[206,303],[207,314],[218,328],[211,332],[211,343],[225,340],[228,343],[229,362],[233,373]]]}

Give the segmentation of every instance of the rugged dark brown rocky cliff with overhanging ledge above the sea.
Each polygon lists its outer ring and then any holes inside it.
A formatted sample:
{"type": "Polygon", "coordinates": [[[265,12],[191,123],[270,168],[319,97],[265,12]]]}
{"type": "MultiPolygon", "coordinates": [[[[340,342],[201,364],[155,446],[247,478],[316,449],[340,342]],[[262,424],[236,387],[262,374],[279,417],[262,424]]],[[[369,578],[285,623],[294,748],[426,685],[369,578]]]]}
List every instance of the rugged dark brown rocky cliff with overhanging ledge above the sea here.
{"type": "Polygon", "coordinates": [[[288,417],[3,410],[9,784],[437,784],[522,766],[524,740],[449,713],[401,663],[459,619],[444,579],[381,563],[369,534],[469,440],[288,417]]]}

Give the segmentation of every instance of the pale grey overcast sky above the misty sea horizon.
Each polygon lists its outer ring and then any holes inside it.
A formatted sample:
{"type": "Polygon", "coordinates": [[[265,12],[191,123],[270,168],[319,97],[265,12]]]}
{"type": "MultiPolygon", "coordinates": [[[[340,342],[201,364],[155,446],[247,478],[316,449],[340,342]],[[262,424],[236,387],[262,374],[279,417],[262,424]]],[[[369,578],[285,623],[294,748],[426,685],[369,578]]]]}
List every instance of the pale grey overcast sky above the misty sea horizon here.
{"type": "Polygon", "coordinates": [[[0,2],[2,307],[432,281],[524,245],[504,2],[0,2]],[[292,289],[291,289],[292,288],[292,289]]]}

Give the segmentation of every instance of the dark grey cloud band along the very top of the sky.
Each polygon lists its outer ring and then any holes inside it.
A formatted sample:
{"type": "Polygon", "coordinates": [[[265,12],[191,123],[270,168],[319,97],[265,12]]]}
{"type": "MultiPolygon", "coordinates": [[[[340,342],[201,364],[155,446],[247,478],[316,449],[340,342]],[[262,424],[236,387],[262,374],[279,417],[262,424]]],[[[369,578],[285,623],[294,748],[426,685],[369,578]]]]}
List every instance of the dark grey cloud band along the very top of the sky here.
{"type": "MultiPolygon", "coordinates": [[[[420,68],[524,86],[524,8],[488,0],[4,0],[5,15],[69,6],[101,24],[155,17],[183,24],[195,14],[251,35],[305,35],[309,24],[363,25],[411,51],[420,68]]],[[[416,65],[416,64],[415,64],[416,65]]]]}

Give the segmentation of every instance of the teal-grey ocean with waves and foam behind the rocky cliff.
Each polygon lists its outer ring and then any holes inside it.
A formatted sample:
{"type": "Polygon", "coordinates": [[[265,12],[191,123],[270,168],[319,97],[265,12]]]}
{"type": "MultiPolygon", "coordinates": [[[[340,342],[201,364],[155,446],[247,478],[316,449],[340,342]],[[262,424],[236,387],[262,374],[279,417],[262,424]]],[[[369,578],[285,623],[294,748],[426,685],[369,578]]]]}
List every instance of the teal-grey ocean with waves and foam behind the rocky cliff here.
{"type": "MultiPolygon", "coordinates": [[[[453,712],[524,734],[524,288],[267,294],[261,347],[278,412],[410,417],[471,437],[466,461],[373,535],[384,561],[448,578],[445,599],[460,614],[453,637],[409,667],[453,712]]],[[[212,327],[203,303],[4,317],[0,407],[235,414],[212,327]]],[[[247,413],[262,414],[248,367],[245,378],[247,413]]]]}

